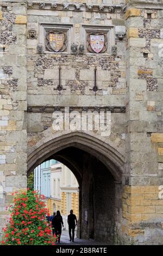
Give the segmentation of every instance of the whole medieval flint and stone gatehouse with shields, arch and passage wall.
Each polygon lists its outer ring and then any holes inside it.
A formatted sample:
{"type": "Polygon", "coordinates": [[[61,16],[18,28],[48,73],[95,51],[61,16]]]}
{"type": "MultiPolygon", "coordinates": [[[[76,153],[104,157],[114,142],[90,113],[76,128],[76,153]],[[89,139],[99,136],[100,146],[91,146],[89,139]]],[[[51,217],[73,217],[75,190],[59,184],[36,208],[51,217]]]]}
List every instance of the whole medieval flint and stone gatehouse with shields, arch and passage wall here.
{"type": "Polygon", "coordinates": [[[162,0],[1,0],[1,227],[12,191],[54,158],[79,183],[78,237],[163,243],[162,9],[162,0]],[[111,111],[111,135],[54,131],[65,106],[111,111]]]}

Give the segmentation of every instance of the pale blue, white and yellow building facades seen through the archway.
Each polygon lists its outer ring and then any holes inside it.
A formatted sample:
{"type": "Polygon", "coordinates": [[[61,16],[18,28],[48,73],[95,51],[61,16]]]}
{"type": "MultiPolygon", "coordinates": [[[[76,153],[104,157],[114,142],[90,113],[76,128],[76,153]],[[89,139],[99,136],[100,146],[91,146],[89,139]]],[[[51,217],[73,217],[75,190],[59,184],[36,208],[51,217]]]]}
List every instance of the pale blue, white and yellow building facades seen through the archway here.
{"type": "Polygon", "coordinates": [[[68,229],[67,215],[73,209],[79,216],[78,181],[64,164],[56,160],[41,163],[34,170],[34,189],[46,197],[50,214],[59,210],[68,229]]]}

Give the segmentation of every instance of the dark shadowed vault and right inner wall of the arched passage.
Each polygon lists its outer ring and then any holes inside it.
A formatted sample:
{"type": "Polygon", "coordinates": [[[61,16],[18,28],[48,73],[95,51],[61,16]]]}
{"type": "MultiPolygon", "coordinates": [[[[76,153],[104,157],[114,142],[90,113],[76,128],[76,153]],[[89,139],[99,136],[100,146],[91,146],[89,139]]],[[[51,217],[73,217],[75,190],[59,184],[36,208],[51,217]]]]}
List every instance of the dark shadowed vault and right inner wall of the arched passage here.
{"type": "Polygon", "coordinates": [[[37,163],[55,159],[65,164],[76,176],[79,184],[77,236],[113,244],[122,214],[120,166],[123,161],[115,155],[117,163],[114,163],[109,150],[107,152],[105,149],[104,155],[97,147],[91,144],[88,147],[79,142],[65,141],[65,147],[61,145],[59,150],[54,150],[54,144],[48,142],[47,149],[45,144],[40,150],[40,155],[39,150],[36,150],[29,157],[29,173],[37,163]],[[52,145],[51,149],[49,145],[52,145]]]}

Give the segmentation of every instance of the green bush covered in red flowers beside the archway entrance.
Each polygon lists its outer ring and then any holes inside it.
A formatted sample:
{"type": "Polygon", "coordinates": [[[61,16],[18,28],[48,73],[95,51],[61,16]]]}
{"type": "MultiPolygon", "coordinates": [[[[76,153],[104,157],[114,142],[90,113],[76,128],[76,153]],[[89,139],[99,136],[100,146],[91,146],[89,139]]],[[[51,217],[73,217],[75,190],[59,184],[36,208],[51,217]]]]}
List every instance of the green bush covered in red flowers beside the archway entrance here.
{"type": "Polygon", "coordinates": [[[15,194],[1,245],[54,245],[56,237],[52,235],[51,223],[47,222],[49,214],[43,199],[42,195],[29,189],[15,194]]]}

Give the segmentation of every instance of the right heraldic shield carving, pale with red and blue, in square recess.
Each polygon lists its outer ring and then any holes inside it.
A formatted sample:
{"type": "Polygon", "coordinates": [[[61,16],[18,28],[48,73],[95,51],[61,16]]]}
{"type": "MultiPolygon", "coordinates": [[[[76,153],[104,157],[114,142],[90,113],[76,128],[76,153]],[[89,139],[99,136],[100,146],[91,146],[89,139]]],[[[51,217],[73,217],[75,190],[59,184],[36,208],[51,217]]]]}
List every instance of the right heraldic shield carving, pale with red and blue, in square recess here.
{"type": "Polygon", "coordinates": [[[106,51],[106,35],[88,34],[87,50],[92,53],[104,53],[106,51]]]}

